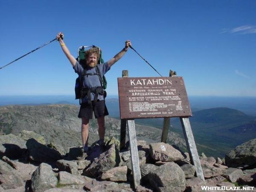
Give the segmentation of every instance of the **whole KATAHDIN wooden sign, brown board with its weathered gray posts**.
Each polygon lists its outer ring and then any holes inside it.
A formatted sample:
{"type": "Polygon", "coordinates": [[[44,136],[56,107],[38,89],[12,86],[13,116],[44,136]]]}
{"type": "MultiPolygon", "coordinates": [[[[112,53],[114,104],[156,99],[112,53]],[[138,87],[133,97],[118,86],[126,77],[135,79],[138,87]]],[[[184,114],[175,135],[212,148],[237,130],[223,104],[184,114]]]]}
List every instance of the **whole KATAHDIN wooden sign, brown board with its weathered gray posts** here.
{"type": "MultiPolygon", "coordinates": [[[[141,179],[134,125],[134,119],[138,118],[180,117],[192,164],[196,167],[197,176],[204,181],[189,124],[188,116],[192,116],[192,113],[183,78],[177,76],[128,78],[128,71],[123,71],[123,78],[118,78],[118,93],[121,117],[120,148],[124,147],[125,122],[127,121],[134,186],[137,187],[141,179]]],[[[166,123],[169,123],[168,121],[167,119],[166,123]]],[[[167,140],[167,136],[165,137],[167,140]]]]}

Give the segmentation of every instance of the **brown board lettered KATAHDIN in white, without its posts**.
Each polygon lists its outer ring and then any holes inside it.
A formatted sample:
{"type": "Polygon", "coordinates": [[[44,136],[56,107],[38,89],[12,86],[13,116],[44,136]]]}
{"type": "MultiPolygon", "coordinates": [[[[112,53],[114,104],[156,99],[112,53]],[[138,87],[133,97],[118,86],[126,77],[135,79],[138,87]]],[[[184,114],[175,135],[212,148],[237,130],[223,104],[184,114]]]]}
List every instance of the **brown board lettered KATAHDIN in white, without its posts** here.
{"type": "Polygon", "coordinates": [[[182,77],[118,78],[121,119],[192,116],[182,77]]]}

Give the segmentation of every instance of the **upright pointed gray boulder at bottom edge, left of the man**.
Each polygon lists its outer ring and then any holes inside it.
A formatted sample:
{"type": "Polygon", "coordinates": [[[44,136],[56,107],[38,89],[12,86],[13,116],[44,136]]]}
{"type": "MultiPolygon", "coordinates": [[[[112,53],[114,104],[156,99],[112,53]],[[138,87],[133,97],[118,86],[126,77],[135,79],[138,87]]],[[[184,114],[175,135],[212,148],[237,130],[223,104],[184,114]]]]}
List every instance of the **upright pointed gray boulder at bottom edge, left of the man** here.
{"type": "Polygon", "coordinates": [[[52,167],[46,163],[41,163],[31,177],[31,188],[33,192],[44,192],[47,189],[54,188],[57,185],[52,167]]]}

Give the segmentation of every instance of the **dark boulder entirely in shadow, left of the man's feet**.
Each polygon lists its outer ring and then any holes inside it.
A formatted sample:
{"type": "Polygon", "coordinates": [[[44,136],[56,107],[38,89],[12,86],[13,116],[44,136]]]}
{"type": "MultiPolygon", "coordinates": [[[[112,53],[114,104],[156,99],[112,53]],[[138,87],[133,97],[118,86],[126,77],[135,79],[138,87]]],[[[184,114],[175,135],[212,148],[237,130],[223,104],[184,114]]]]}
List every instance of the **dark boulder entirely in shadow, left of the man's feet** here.
{"type": "Polygon", "coordinates": [[[41,163],[62,159],[62,156],[58,151],[38,143],[35,139],[27,140],[26,146],[29,151],[29,158],[33,161],[41,163]]]}

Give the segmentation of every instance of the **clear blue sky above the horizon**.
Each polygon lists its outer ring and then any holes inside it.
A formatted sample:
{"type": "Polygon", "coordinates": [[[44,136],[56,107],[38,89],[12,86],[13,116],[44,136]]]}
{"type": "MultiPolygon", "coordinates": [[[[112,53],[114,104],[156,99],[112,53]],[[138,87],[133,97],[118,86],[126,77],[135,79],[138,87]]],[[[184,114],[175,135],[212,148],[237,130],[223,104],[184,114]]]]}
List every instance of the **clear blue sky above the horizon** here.
{"type": "MultiPolygon", "coordinates": [[[[189,96],[256,96],[256,1],[8,0],[0,1],[0,67],[63,32],[76,56],[81,45],[102,48],[105,61],[130,39],[163,76],[183,76],[189,96]]],[[[106,74],[158,74],[129,50],[106,74]]],[[[58,42],[0,70],[0,96],[74,95],[77,75],[58,42]]]]}

